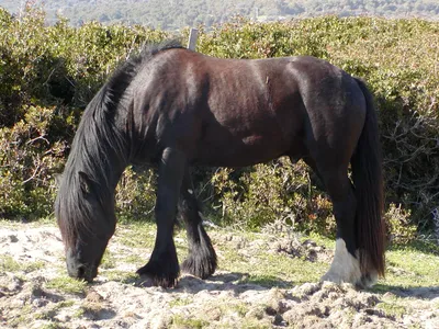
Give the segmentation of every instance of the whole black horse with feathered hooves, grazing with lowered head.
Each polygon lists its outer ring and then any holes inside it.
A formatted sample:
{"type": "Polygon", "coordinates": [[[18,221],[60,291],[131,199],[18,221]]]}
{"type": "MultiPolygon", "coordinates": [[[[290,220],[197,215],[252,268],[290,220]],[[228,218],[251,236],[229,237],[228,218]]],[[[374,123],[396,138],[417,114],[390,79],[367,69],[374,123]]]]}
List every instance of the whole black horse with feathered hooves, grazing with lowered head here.
{"type": "Polygon", "coordinates": [[[190,167],[241,167],[281,156],[303,159],[331,198],[336,254],[323,280],[372,284],[384,274],[383,179],[364,83],[314,57],[218,59],[175,42],[145,48],[102,87],[76,133],[55,205],[68,273],[97,276],[115,230],[117,181],[127,164],[151,163],[158,167],[157,237],[137,273],[161,286],[177,284],[179,212],[189,240],[182,270],[210,276],[216,254],[190,167]]]}

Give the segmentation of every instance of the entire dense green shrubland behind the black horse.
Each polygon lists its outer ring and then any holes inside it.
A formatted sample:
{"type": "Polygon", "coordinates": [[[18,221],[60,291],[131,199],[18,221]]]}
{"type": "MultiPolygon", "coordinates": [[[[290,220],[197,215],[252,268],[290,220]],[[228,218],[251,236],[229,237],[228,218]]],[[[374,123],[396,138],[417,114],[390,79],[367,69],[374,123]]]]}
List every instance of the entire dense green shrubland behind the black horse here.
{"type": "MultiPolygon", "coordinates": [[[[29,10],[0,10],[0,217],[52,214],[80,115],[117,63],[169,33],[142,26],[45,26],[29,10]]],[[[187,37],[187,31],[180,36],[187,37]]],[[[201,33],[198,50],[229,58],[313,55],[362,77],[376,98],[392,238],[426,235],[439,205],[439,23],[373,18],[236,21],[201,33]]],[[[334,234],[330,203],[303,162],[194,171],[205,214],[257,228],[282,220],[334,234]]],[[[130,168],[117,188],[122,218],[149,217],[155,177],[130,168]]]]}

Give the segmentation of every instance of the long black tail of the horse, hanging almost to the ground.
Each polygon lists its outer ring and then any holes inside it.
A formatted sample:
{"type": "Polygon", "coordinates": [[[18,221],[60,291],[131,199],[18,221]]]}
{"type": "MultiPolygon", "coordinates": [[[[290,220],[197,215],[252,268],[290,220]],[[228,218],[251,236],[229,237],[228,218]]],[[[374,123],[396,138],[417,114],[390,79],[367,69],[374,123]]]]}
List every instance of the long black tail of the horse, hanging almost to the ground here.
{"type": "Polygon", "coordinates": [[[362,273],[384,276],[385,230],[382,156],[373,97],[365,83],[356,79],[367,104],[365,121],[351,159],[357,198],[356,242],[362,273]]]}

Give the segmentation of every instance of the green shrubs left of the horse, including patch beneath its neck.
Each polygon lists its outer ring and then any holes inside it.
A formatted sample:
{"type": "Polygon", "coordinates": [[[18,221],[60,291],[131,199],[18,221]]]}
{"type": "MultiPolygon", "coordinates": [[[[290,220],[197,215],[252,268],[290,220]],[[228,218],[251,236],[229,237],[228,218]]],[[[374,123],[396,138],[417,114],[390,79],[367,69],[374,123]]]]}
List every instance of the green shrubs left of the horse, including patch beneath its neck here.
{"type": "MultiPolygon", "coordinates": [[[[74,29],[65,20],[46,26],[44,19],[32,8],[20,19],[0,9],[0,217],[52,213],[55,175],[82,110],[119,63],[168,36],[142,26],[74,29]]],[[[140,216],[154,193],[147,177],[133,182],[130,172],[119,186],[117,209],[136,208],[140,216]]]]}

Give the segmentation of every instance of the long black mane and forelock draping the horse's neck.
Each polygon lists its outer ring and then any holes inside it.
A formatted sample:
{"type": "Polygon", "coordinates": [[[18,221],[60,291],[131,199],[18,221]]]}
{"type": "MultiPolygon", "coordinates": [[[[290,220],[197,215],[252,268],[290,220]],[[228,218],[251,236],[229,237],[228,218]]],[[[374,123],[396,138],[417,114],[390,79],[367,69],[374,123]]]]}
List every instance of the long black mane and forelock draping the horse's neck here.
{"type": "Polygon", "coordinates": [[[139,55],[131,56],[119,66],[86,107],[55,202],[55,215],[66,246],[72,246],[78,229],[88,229],[93,218],[93,208],[81,193],[78,172],[87,173],[97,185],[99,194],[93,192],[98,200],[113,197],[115,186],[110,181],[110,170],[117,162],[123,168],[130,162],[130,140],[115,122],[116,117],[127,114],[123,102],[128,97],[126,90],[144,64],[172,48],[183,47],[177,41],[144,46],[139,55]]]}

